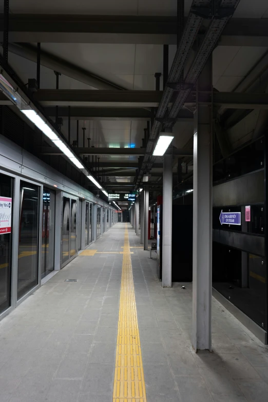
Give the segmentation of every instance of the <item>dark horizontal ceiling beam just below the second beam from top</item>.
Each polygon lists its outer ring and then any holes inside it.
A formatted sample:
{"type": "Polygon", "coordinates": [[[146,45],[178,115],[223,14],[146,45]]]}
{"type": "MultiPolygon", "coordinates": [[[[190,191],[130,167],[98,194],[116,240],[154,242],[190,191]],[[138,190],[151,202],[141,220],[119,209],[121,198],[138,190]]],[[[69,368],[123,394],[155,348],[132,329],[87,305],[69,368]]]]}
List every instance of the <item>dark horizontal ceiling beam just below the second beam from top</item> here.
{"type": "MultiPolygon", "coordinates": [[[[56,110],[52,106],[44,108],[47,116],[55,117],[56,110]]],[[[112,108],[112,107],[71,107],[71,120],[150,120],[151,111],[143,108],[112,108]]],[[[58,116],[68,119],[68,107],[61,106],[58,116]]],[[[178,114],[178,121],[193,121],[193,113],[183,109],[178,114]]]]}

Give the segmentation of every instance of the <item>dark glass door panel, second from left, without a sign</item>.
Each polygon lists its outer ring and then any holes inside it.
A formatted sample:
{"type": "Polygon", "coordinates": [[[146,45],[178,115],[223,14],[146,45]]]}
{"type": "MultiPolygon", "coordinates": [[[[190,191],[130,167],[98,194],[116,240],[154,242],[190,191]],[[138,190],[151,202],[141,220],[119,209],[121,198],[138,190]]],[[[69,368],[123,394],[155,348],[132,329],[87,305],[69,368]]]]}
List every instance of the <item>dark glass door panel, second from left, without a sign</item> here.
{"type": "Polygon", "coordinates": [[[17,298],[38,282],[38,233],[40,188],[21,181],[20,227],[18,238],[17,298]]]}

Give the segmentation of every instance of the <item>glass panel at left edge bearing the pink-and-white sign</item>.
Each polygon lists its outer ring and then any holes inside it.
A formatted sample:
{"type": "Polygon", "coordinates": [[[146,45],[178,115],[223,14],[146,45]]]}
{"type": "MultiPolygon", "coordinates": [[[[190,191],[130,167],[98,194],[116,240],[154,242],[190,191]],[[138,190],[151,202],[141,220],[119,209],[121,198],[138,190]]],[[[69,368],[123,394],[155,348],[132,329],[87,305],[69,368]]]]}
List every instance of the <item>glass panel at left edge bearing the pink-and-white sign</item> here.
{"type": "Polygon", "coordinates": [[[0,174],[0,313],[10,307],[13,178],[0,174]]]}

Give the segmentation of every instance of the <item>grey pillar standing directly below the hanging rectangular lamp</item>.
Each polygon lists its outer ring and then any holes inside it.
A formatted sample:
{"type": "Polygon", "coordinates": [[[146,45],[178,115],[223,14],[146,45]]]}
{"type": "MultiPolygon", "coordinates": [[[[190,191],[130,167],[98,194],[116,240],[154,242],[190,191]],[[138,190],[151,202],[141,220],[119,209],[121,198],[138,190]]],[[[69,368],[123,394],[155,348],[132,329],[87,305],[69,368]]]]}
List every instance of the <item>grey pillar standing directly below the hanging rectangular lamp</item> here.
{"type": "Polygon", "coordinates": [[[173,160],[164,155],[163,164],[163,234],[162,237],[162,284],[171,288],[171,241],[172,241],[172,168],[173,160]]]}

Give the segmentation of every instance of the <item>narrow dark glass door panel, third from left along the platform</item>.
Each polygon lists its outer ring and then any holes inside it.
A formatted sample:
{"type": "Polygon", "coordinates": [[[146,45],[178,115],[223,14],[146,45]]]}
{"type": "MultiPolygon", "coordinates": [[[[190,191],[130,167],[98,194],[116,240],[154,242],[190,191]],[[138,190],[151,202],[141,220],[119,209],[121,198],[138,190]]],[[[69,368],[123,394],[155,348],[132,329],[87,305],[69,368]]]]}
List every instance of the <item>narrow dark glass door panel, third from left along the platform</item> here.
{"type": "Polygon", "coordinates": [[[54,270],[55,192],[44,187],[42,216],[41,277],[54,270]]]}

